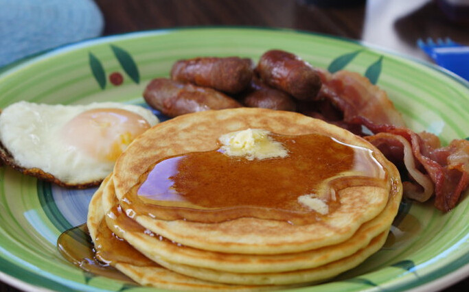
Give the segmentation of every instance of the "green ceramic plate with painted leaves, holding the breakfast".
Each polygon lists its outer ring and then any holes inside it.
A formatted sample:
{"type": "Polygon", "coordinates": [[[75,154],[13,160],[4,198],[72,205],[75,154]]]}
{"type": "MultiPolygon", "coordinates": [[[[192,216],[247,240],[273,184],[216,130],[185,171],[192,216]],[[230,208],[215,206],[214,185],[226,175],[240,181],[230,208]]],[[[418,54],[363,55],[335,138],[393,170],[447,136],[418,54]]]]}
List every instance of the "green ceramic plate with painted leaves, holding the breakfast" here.
{"type": "MultiPolygon", "coordinates": [[[[444,143],[469,136],[469,85],[435,66],[359,42],[278,29],[194,28],[98,38],[49,51],[0,73],[0,107],[29,100],[47,104],[122,101],[144,104],[154,77],[175,60],[242,56],[268,49],[297,53],[315,66],[357,71],[387,90],[409,127],[444,143]]],[[[84,223],[93,190],[69,191],[9,168],[0,169],[0,278],[23,289],[148,291],[93,276],[56,249],[61,232],[84,223]]],[[[377,254],[314,291],[442,289],[469,276],[469,199],[442,214],[404,201],[391,235],[377,254]]],[[[312,287],[295,291],[313,291],[312,287]]]]}

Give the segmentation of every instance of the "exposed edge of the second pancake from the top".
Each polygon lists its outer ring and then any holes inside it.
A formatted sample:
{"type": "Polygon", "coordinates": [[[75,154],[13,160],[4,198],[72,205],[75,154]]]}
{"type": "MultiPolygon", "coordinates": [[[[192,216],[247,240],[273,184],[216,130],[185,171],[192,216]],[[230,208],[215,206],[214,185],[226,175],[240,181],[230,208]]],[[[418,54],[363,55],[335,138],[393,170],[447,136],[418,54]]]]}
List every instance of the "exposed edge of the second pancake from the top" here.
{"type": "MultiPolygon", "coordinates": [[[[111,210],[117,202],[113,190],[113,181],[110,180],[102,195],[102,204],[105,210],[111,210]]],[[[142,232],[144,228],[141,226],[133,228],[135,225],[126,224],[126,221],[132,219],[124,214],[108,216],[106,222],[113,232],[128,241],[137,250],[149,258],[164,260],[168,265],[181,264],[231,273],[277,273],[311,269],[351,256],[367,246],[376,236],[389,230],[398,206],[398,197],[392,197],[385,210],[363,224],[348,241],[293,254],[226,254],[187,246],[181,248],[181,245],[164,239],[163,236],[142,232]]]]}

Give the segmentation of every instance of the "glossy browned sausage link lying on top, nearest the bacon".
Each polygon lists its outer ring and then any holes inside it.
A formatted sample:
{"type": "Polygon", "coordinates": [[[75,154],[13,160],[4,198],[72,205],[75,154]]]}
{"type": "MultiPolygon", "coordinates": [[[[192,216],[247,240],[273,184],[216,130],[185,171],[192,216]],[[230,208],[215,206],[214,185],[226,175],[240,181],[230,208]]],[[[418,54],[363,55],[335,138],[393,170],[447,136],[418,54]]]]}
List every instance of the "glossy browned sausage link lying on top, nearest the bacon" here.
{"type": "Polygon", "coordinates": [[[312,66],[286,51],[266,51],[257,70],[266,84],[284,90],[296,99],[315,99],[321,88],[321,78],[312,66]]]}

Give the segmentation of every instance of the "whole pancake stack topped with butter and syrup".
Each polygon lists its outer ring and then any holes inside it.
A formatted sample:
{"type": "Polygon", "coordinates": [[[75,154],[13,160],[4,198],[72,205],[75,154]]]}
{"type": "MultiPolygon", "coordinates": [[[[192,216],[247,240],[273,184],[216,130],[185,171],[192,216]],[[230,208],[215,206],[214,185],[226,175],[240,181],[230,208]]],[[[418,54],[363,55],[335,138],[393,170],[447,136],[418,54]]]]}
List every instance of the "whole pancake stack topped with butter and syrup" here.
{"type": "Polygon", "coordinates": [[[272,290],[362,263],[384,244],[401,195],[396,167],[340,127],[295,112],[209,110],[137,137],[93,196],[88,226],[98,254],[92,230],[103,225],[155,265],[122,268],[100,254],[140,284],[168,288],[171,274],[272,290]],[[155,267],[164,273],[153,282],[155,267]]]}

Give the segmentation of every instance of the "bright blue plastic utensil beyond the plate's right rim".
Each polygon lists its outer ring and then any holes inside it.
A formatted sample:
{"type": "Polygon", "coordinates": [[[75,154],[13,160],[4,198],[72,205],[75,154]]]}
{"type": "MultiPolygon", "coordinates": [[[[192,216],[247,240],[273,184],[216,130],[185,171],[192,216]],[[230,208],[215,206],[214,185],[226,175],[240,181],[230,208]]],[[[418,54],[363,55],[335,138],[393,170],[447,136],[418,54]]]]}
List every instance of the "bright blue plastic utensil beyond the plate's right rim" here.
{"type": "Polygon", "coordinates": [[[419,39],[417,45],[430,58],[453,73],[469,80],[469,47],[453,42],[449,38],[433,41],[428,38],[426,42],[419,39]]]}

